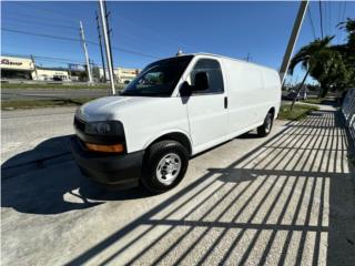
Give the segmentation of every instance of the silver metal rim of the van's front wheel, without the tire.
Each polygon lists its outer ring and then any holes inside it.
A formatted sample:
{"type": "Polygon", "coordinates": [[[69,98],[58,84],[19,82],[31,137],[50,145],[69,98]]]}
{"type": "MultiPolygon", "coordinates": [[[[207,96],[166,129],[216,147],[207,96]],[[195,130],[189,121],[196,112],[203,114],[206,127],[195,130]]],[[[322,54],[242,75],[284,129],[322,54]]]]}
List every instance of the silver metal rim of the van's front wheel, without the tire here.
{"type": "Polygon", "coordinates": [[[156,166],[156,178],[164,185],[170,185],[178,177],[181,170],[181,158],[175,153],[164,155],[156,166]]]}

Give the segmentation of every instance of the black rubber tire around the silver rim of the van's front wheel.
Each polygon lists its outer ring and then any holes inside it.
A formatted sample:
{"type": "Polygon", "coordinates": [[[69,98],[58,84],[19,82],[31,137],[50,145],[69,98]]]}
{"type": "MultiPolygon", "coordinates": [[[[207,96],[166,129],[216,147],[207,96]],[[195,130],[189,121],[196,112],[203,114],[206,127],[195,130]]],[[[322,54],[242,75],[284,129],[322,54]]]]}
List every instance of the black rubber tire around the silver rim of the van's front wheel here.
{"type": "MultiPolygon", "coordinates": [[[[178,161],[179,161],[178,158],[178,161]]],[[[163,193],[175,187],[184,177],[189,165],[189,153],[186,149],[176,141],[161,141],[152,144],[148,151],[143,162],[142,185],[152,193],[163,193]],[[180,158],[180,171],[176,171],[176,177],[171,184],[162,183],[162,178],[158,175],[159,163],[169,154],[175,154],[180,158]],[[161,181],[160,181],[161,180],[161,181]]]]}

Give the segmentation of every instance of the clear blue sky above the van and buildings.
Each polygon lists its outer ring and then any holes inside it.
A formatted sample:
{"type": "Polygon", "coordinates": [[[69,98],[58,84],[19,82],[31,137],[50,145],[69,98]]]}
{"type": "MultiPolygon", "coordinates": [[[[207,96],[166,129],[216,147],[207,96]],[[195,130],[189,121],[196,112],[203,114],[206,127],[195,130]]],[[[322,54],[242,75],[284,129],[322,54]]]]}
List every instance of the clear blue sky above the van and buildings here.
{"type": "MultiPolygon", "coordinates": [[[[50,39],[45,34],[79,40],[79,21],[85,38],[98,42],[95,11],[91,2],[2,2],[1,53],[33,54],[48,66],[83,63],[79,41],[50,39]],[[9,32],[6,30],[23,31],[9,32]]],[[[211,52],[278,69],[298,10],[298,1],[287,2],[108,2],[111,12],[114,65],[143,68],[155,58],[184,52],[211,52]],[[123,52],[129,50],[130,52],[123,52]],[[133,53],[131,53],[133,52],[133,53]],[[140,54],[142,53],[142,54],[140,54]]],[[[355,2],[322,2],[324,34],[345,33],[338,21],[355,14],[355,2]]],[[[321,35],[318,1],[310,3],[315,35],[321,35]]],[[[306,14],[296,49],[314,39],[306,14]]],[[[89,43],[89,55],[101,64],[100,50],[89,43]]],[[[290,81],[301,81],[296,71],[290,81]]]]}

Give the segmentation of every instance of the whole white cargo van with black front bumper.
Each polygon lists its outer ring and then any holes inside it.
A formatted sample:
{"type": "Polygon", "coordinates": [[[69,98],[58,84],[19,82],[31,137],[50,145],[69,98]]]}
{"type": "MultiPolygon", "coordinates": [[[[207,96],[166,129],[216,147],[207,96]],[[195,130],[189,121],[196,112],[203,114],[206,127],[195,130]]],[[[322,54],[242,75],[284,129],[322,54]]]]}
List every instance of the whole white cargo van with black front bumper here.
{"type": "Polygon", "coordinates": [[[267,135],[280,102],[272,69],[203,53],[160,60],[120,95],[78,109],[73,156],[99,183],[164,192],[190,156],[253,129],[267,135]]]}

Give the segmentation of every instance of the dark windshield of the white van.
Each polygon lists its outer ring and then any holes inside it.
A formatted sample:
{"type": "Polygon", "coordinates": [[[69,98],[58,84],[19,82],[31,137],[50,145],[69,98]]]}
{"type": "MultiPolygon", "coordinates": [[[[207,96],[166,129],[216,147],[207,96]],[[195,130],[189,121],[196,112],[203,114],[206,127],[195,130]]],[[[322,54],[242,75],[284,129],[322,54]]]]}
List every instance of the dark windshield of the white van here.
{"type": "Polygon", "coordinates": [[[171,96],[192,58],[183,55],[149,64],[120,95],[171,96]]]}

